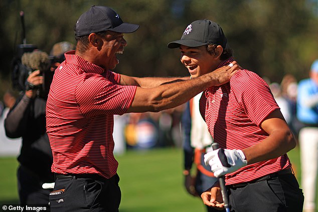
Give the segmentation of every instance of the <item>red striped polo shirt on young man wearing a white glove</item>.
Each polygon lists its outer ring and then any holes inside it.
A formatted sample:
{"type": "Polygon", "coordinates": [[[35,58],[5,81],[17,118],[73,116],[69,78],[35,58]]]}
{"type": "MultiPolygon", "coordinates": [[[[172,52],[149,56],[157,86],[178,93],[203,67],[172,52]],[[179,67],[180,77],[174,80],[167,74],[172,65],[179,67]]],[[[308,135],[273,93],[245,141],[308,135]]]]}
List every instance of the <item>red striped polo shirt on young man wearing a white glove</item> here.
{"type": "MultiPolygon", "coordinates": [[[[231,61],[224,61],[219,67],[231,61]]],[[[210,87],[200,100],[200,111],[214,141],[227,149],[245,149],[265,139],[268,134],[260,124],[276,109],[279,107],[268,85],[248,70],[239,70],[227,84],[210,87]]],[[[290,166],[284,154],[227,174],[226,184],[251,181],[290,166]]]]}

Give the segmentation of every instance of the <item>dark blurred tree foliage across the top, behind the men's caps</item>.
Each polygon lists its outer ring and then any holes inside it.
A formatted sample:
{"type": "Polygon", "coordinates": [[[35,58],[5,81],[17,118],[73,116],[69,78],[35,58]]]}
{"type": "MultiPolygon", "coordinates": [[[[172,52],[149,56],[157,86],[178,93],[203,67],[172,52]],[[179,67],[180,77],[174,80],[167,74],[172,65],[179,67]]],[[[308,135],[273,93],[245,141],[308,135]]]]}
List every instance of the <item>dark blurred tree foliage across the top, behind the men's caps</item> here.
{"type": "MultiPolygon", "coordinates": [[[[0,3],[0,92],[8,89],[10,61],[22,43],[20,11],[24,11],[26,40],[50,52],[60,41],[75,44],[74,25],[91,5],[113,8],[124,22],[140,28],[126,34],[128,46],[116,72],[132,76],[186,76],[178,49],[167,44],[181,38],[198,19],[210,19],[225,32],[239,64],[280,82],[285,74],[307,77],[318,58],[316,1],[251,0],[3,0],[0,3]],[[315,9],[315,10],[313,10],[315,9]],[[3,85],[6,85],[4,87],[3,85]]],[[[0,93],[1,96],[1,93],[0,93]]]]}

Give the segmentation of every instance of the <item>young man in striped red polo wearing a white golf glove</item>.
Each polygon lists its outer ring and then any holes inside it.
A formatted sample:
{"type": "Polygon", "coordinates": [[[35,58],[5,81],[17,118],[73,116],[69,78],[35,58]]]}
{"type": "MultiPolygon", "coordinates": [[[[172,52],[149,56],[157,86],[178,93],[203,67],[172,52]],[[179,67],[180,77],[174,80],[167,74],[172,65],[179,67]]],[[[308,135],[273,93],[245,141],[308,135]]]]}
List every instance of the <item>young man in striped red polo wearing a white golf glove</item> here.
{"type": "MultiPolygon", "coordinates": [[[[225,35],[209,20],[191,23],[168,48],[180,49],[192,78],[232,66],[225,35]]],[[[231,211],[302,211],[303,194],[286,154],[296,141],[258,75],[242,69],[230,82],[209,87],[200,111],[220,147],[205,154],[205,163],[216,177],[225,175],[231,211]]],[[[224,207],[218,183],[201,197],[206,205],[224,207]]]]}

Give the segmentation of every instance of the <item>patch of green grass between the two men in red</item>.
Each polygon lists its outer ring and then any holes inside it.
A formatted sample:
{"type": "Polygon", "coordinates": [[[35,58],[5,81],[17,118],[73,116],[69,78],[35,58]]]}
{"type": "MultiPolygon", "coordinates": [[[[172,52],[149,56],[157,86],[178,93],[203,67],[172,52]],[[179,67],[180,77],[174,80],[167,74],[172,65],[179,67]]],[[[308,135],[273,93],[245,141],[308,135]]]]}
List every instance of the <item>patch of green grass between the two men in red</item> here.
{"type": "Polygon", "coordinates": [[[120,211],[205,211],[201,198],[183,187],[182,151],[156,149],[116,156],[120,211]]]}

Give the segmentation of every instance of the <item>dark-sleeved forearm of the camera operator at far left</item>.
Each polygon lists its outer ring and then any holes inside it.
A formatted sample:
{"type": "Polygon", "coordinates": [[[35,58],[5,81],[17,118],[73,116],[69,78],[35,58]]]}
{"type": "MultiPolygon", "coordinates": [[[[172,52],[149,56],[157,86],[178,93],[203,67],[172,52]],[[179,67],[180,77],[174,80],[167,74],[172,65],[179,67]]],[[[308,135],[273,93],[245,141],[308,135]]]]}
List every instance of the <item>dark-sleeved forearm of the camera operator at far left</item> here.
{"type": "Polygon", "coordinates": [[[17,138],[23,135],[27,125],[25,113],[31,99],[24,95],[18,104],[9,112],[5,120],[6,134],[10,138],[17,138]]]}

